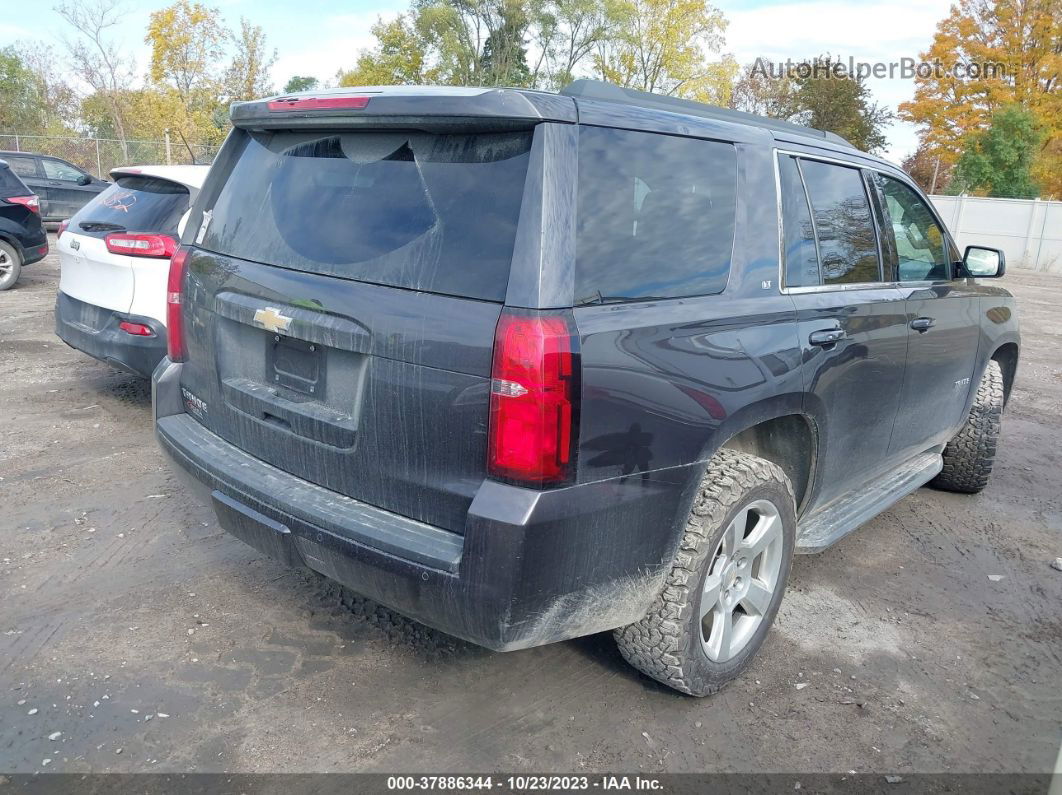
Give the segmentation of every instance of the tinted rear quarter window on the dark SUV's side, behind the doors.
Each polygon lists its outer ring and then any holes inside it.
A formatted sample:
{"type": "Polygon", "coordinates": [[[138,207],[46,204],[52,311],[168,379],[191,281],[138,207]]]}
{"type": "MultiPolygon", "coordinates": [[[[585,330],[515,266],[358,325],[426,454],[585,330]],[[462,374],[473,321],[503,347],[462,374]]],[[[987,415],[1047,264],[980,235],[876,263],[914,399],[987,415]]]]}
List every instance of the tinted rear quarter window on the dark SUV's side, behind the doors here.
{"type": "Polygon", "coordinates": [[[576,303],[721,292],[736,193],[732,144],[582,127],[576,303]]]}

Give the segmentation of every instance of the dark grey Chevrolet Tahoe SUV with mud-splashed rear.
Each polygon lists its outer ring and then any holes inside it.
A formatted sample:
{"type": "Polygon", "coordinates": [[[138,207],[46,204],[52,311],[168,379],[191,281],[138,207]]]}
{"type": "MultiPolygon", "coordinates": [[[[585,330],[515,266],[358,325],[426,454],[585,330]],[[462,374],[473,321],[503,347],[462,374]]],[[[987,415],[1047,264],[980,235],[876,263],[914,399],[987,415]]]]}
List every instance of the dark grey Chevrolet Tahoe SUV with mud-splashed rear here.
{"type": "Polygon", "coordinates": [[[232,119],[154,413],[279,560],[499,651],[614,629],[705,695],[794,552],[988,483],[1003,255],[837,136],[593,82],[232,119]]]}

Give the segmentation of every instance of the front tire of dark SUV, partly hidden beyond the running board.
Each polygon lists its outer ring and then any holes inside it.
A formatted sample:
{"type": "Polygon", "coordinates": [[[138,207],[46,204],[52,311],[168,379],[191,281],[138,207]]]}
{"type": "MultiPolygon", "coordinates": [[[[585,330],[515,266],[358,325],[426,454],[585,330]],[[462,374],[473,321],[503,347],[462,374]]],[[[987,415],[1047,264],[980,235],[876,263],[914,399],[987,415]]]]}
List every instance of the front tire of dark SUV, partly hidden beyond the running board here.
{"type": "Polygon", "coordinates": [[[1003,369],[992,360],[984,368],[970,416],[944,448],[944,468],[930,481],[930,486],[974,495],[989,484],[999,442],[1003,407],[1003,369]]]}

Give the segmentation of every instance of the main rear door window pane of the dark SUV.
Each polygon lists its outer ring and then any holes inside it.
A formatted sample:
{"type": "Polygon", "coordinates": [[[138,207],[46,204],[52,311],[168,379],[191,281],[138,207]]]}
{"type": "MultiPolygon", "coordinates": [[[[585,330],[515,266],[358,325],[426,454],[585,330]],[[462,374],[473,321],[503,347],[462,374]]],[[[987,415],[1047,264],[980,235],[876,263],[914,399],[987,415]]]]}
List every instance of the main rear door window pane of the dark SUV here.
{"type": "Polygon", "coordinates": [[[823,284],[880,281],[877,236],[858,169],[801,159],[823,284]]]}

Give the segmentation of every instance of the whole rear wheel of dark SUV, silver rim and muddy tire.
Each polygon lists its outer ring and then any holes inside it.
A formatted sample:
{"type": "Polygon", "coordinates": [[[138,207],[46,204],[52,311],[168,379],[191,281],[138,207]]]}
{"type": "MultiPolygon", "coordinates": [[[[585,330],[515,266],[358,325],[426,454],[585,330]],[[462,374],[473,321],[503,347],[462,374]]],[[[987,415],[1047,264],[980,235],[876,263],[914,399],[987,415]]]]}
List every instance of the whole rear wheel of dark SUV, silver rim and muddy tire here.
{"type": "Polygon", "coordinates": [[[774,464],[721,450],[708,464],[663,591],[617,629],[624,659],[690,695],[734,679],[764,643],[792,566],[792,486],[774,464]]]}

